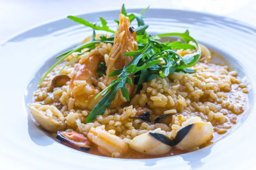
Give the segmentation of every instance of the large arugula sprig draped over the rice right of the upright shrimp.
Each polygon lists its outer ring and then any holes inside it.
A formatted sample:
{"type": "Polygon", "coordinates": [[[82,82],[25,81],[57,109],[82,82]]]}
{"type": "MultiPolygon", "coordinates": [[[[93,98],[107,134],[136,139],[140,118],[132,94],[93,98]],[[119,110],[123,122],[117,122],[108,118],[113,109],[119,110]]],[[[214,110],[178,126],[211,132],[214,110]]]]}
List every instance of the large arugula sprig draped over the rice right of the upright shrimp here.
{"type": "MultiPolygon", "coordinates": [[[[109,108],[113,99],[115,99],[116,92],[121,89],[122,95],[127,101],[129,101],[129,92],[126,83],[133,85],[129,76],[136,76],[136,85],[141,85],[143,82],[150,81],[157,76],[164,78],[174,71],[183,71],[186,73],[195,73],[193,69],[188,67],[194,66],[200,59],[201,50],[198,43],[189,36],[189,32],[184,33],[169,33],[168,36],[179,36],[184,38],[186,43],[161,43],[156,41],[152,36],[145,36],[147,38],[146,45],[139,51],[128,52],[124,55],[134,56],[132,61],[123,69],[116,69],[108,76],[116,76],[118,78],[104,90],[102,90],[95,98],[104,96],[100,99],[99,103],[93,108],[88,115],[86,122],[92,122],[98,115],[103,115],[104,111],[109,108]],[[187,54],[181,57],[173,49],[192,49],[195,50],[195,46],[189,45],[189,41],[193,41],[198,48],[195,53],[187,54]]],[[[162,37],[162,34],[157,35],[162,37]]],[[[144,39],[145,41],[145,39],[144,39]]]]}

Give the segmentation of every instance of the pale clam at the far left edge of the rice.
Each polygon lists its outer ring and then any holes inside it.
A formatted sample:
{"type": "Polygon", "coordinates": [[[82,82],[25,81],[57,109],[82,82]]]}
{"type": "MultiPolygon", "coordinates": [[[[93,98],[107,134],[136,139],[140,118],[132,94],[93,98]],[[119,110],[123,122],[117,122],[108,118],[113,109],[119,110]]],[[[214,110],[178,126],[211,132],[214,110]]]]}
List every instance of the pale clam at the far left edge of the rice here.
{"type": "Polygon", "coordinates": [[[35,103],[28,106],[36,122],[47,131],[56,132],[65,129],[65,118],[55,106],[35,103]]]}

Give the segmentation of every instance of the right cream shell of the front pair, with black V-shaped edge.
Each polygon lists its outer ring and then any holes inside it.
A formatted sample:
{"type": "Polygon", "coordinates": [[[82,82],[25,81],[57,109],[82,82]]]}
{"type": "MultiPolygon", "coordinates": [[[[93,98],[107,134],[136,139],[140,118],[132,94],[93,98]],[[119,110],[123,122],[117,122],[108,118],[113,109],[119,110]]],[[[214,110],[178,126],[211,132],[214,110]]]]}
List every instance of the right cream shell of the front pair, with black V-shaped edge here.
{"type": "Polygon", "coordinates": [[[152,132],[149,134],[168,146],[175,146],[180,150],[191,150],[211,139],[212,132],[213,127],[210,122],[196,122],[180,129],[172,140],[163,134],[152,132]]]}

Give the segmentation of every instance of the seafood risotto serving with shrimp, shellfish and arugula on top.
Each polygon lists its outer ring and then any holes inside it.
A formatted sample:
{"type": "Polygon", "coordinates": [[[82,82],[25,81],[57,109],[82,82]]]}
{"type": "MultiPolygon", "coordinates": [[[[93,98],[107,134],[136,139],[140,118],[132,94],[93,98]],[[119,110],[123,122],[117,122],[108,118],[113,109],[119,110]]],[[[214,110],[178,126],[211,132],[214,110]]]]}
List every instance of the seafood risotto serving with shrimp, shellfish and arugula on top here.
{"type": "Polygon", "coordinates": [[[102,27],[81,23],[93,36],[58,57],[28,104],[38,125],[77,150],[131,159],[191,152],[223,138],[248,102],[237,72],[212,63],[217,54],[187,31],[147,36],[141,13],[133,15],[123,6],[116,32],[103,18],[102,27]]]}

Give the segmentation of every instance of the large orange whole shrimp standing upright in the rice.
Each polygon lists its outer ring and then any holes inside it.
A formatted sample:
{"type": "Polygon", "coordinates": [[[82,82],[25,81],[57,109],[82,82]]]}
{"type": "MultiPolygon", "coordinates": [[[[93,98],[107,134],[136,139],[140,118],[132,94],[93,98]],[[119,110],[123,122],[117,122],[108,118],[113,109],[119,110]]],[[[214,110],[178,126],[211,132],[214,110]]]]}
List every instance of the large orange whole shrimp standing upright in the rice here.
{"type": "MultiPolygon", "coordinates": [[[[101,43],[106,45],[104,43],[101,43]]],[[[102,46],[103,46],[102,45],[102,46]]],[[[136,32],[130,28],[130,21],[120,13],[120,24],[118,32],[115,33],[115,41],[108,57],[102,56],[99,52],[100,45],[87,54],[86,58],[79,61],[75,69],[75,74],[70,80],[70,89],[75,99],[76,106],[92,110],[94,106],[102,99],[102,96],[95,96],[102,90],[98,87],[97,69],[100,62],[106,62],[106,74],[108,75],[115,69],[120,69],[131,62],[132,57],[124,56],[124,53],[138,50],[136,41],[136,32]]],[[[102,83],[108,86],[117,76],[104,76],[102,83]]],[[[131,76],[132,78],[132,76],[131,76]]],[[[133,78],[132,78],[133,80],[133,78]]],[[[134,86],[127,84],[129,94],[132,94],[134,86]]],[[[122,93],[116,93],[115,100],[111,103],[111,107],[121,106],[126,102],[122,93]]]]}

